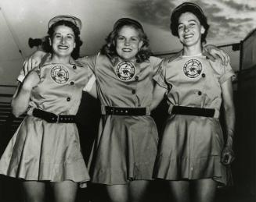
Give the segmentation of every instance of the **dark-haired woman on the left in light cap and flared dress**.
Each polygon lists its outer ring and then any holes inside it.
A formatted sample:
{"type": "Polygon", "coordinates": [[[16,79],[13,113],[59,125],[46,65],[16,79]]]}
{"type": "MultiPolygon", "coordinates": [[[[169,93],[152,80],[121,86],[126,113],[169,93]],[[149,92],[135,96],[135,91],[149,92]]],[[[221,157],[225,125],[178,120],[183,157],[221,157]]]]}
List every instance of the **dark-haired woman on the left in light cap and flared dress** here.
{"type": "MultiPolygon", "coordinates": [[[[78,57],[81,20],[56,16],[49,21],[51,55],[31,70],[13,96],[13,114],[27,112],[0,160],[0,173],[22,180],[26,201],[45,201],[52,186],[59,202],[75,200],[88,170],[81,154],[75,115],[92,71],[78,57]]],[[[47,42],[46,42],[47,43],[47,42]]]]}

